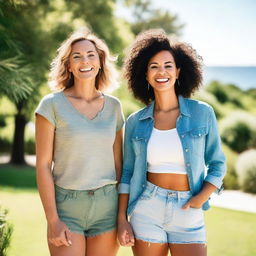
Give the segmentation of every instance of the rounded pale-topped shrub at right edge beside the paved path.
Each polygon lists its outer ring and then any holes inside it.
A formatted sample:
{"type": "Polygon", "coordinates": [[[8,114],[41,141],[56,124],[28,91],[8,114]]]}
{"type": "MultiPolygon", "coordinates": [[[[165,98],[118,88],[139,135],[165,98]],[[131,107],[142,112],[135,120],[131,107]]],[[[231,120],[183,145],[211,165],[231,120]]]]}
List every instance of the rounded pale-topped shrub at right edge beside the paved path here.
{"type": "Polygon", "coordinates": [[[256,150],[250,149],[239,155],[236,173],[240,187],[245,192],[256,193],[256,150]]]}

